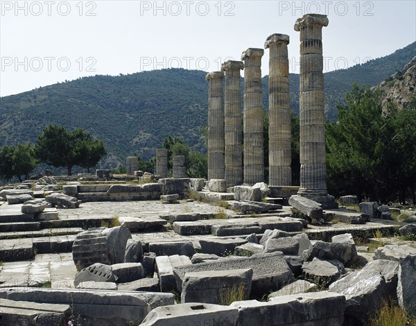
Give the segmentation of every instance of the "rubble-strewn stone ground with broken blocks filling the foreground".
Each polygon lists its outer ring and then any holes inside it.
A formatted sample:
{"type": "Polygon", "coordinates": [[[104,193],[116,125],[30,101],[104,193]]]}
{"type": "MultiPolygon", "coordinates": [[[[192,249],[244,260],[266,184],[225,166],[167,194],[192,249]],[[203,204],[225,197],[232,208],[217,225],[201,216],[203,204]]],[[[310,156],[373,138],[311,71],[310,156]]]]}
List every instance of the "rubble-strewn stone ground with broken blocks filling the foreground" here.
{"type": "Polygon", "coordinates": [[[0,206],[0,307],[15,325],[363,325],[384,300],[415,313],[416,227],[376,210],[324,209],[312,225],[291,206],[43,195],[0,206]]]}

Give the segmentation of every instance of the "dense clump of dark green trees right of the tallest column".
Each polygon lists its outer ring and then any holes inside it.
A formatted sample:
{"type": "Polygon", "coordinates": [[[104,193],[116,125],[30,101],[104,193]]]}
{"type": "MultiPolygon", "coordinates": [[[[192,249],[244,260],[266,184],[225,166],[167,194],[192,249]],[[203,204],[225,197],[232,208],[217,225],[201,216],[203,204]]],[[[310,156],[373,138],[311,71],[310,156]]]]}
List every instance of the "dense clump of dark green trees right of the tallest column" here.
{"type": "Polygon", "coordinates": [[[415,189],[416,110],[383,112],[379,93],[352,86],[338,105],[338,123],[327,123],[330,192],[387,202],[415,189]]]}

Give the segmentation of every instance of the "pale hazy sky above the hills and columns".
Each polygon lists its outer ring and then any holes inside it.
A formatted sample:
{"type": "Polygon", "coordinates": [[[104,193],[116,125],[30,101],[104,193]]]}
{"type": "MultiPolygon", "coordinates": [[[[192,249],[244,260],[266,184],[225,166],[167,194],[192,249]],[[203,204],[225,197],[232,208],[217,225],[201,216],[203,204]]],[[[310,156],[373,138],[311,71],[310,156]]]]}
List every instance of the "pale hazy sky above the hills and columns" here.
{"type": "MultiPolygon", "coordinates": [[[[416,40],[416,1],[0,1],[0,96],[80,76],[182,67],[215,71],[263,48],[272,33],[291,37],[295,20],[328,15],[324,71],[380,58],[416,40]]],[[[416,55],[416,53],[415,53],[416,55]]],[[[268,74],[268,50],[262,60],[268,74]]]]}

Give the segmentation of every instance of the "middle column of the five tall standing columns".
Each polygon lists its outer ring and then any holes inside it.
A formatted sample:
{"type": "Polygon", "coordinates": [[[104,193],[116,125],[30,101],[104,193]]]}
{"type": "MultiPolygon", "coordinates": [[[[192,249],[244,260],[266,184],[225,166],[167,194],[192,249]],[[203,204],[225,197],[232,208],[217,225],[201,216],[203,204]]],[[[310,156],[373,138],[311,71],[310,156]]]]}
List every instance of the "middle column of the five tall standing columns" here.
{"type": "Polygon", "coordinates": [[[244,61],[244,183],[263,182],[263,94],[261,57],[263,49],[247,49],[244,61]]]}

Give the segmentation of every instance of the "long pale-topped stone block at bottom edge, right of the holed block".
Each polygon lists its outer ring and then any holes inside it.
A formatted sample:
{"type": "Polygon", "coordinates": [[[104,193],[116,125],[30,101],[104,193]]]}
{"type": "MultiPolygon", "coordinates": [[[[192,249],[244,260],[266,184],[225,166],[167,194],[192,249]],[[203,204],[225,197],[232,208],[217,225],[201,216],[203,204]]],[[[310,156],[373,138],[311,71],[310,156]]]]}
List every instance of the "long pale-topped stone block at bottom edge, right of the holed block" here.
{"type": "Polygon", "coordinates": [[[239,309],[238,326],[308,325],[341,326],[345,296],[328,291],[284,295],[268,302],[239,301],[229,307],[239,309]]]}

